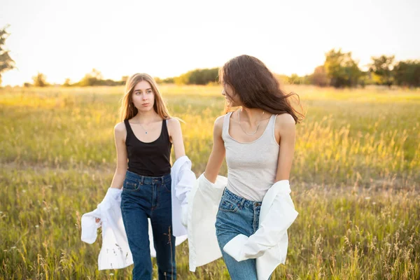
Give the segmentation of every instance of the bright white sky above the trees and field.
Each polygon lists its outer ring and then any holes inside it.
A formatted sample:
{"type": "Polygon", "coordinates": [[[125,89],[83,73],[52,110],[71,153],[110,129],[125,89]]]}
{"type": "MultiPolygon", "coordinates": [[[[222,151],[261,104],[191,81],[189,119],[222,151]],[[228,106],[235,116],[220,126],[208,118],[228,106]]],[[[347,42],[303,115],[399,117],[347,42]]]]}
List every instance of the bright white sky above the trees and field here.
{"type": "Polygon", "coordinates": [[[1,0],[0,28],[18,69],[3,85],[146,72],[166,78],[221,66],[236,55],[276,73],[304,75],[332,48],[370,57],[420,59],[419,0],[1,0]]]}

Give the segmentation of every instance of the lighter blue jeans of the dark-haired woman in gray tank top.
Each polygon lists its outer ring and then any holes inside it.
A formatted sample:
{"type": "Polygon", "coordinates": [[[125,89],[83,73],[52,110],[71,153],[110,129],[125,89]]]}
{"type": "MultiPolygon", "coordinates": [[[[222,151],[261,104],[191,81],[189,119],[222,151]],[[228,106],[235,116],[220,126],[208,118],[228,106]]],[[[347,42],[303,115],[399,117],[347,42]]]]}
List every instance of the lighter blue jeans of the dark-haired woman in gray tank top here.
{"type": "Polygon", "coordinates": [[[225,188],[216,216],[216,235],[232,280],[257,279],[255,259],[237,262],[223,247],[239,234],[250,236],[258,230],[260,209],[261,202],[246,200],[225,188]]]}

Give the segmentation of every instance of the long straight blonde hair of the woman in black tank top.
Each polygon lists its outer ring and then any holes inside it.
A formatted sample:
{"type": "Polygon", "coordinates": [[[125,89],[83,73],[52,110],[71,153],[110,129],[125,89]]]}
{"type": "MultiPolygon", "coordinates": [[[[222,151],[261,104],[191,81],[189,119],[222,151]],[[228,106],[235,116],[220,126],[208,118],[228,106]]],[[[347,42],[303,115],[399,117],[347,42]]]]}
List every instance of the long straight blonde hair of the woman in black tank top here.
{"type": "Polygon", "coordinates": [[[143,80],[151,84],[153,94],[155,95],[155,104],[153,104],[155,112],[158,113],[160,118],[164,120],[171,118],[155,80],[146,73],[135,73],[133,76],[128,78],[127,83],[125,83],[125,95],[121,101],[120,109],[121,120],[130,120],[130,118],[133,118],[139,112],[139,110],[134,107],[132,94],[134,87],[143,80]]]}

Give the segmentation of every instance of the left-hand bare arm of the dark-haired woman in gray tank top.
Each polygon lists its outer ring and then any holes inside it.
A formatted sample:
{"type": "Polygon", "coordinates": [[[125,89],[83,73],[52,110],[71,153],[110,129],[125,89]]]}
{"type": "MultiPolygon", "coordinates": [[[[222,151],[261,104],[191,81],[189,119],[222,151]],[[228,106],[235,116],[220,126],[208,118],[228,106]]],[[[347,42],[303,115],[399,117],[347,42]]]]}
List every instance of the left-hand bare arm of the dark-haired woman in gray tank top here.
{"type": "Polygon", "coordinates": [[[225,158],[225,144],[222,139],[223,118],[218,117],[214,122],[213,129],[213,150],[211,150],[209,161],[207,162],[204,176],[212,183],[216,182],[218,172],[220,171],[225,158]]]}

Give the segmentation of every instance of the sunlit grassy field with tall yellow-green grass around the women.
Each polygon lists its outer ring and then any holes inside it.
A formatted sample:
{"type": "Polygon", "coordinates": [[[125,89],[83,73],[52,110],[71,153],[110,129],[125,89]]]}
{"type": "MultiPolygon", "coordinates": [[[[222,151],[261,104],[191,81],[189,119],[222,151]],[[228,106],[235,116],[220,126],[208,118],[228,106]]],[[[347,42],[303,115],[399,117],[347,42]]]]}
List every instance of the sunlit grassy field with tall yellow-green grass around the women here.
{"type": "MultiPolygon", "coordinates": [[[[162,85],[182,118],[193,170],[204,171],[221,88],[162,85]]],[[[289,87],[297,125],[290,178],[300,215],[286,265],[272,279],[420,279],[420,91],[289,87]]],[[[100,240],[80,241],[80,216],[109,188],[123,87],[0,90],[0,279],[131,279],[98,272],[100,240]]],[[[226,174],[223,165],[221,174],[226,174]]],[[[223,260],[178,279],[230,279],[223,260]]]]}

